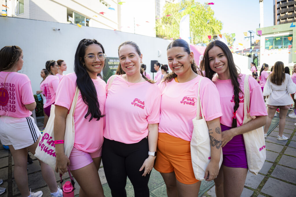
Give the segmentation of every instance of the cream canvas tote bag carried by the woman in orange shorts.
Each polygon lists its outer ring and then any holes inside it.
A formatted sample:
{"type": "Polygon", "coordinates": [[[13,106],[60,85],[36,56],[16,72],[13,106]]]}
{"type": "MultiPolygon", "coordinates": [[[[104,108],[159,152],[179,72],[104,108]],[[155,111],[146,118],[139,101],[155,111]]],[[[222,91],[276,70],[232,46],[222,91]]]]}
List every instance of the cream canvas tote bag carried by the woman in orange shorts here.
{"type": "MultiPolygon", "coordinates": [[[[197,101],[196,101],[196,118],[192,119],[193,123],[193,132],[192,138],[190,141],[190,151],[191,151],[191,161],[194,171],[194,176],[197,180],[204,180],[205,170],[207,165],[210,163],[211,159],[211,145],[210,145],[210,135],[209,129],[207,128],[207,123],[205,117],[202,113],[202,105],[200,101],[200,82],[203,77],[200,78],[198,82],[198,91],[197,91],[197,101]],[[200,112],[202,116],[200,115],[200,112]]],[[[221,156],[219,162],[219,168],[222,165],[223,154],[221,148],[221,156]]]]}

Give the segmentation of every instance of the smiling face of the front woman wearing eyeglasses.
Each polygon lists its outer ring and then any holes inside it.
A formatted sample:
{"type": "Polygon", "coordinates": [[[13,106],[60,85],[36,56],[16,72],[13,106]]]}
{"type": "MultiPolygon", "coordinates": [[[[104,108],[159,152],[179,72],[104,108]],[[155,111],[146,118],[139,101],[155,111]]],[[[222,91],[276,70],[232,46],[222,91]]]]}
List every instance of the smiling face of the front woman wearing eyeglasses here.
{"type": "Polygon", "coordinates": [[[83,58],[81,61],[83,64],[85,64],[86,71],[89,73],[89,76],[91,79],[96,79],[97,74],[102,72],[105,61],[100,61],[98,58],[99,54],[102,54],[103,50],[100,47],[100,45],[97,44],[91,44],[89,45],[86,50],[84,57],[87,57],[88,55],[95,55],[96,60],[94,62],[89,62],[87,58],[83,58]],[[83,62],[84,61],[84,62],[83,62]]]}

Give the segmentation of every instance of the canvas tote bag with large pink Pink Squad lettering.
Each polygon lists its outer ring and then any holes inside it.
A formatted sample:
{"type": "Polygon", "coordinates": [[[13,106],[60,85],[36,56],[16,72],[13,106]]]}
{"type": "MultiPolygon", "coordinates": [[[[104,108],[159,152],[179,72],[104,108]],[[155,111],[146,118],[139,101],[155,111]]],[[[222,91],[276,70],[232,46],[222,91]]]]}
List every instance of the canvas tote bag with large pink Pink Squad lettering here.
{"type": "MultiPolygon", "coordinates": [[[[75,95],[72,101],[71,108],[66,117],[66,128],[64,136],[64,150],[67,157],[70,156],[70,153],[73,149],[74,138],[75,138],[75,124],[74,124],[74,111],[76,108],[76,103],[78,99],[79,89],[76,87],[75,95]]],[[[48,164],[53,169],[56,165],[56,154],[55,154],[55,145],[54,145],[54,108],[52,105],[50,109],[50,116],[45,127],[44,132],[41,135],[41,139],[36,148],[35,157],[48,164]]]]}

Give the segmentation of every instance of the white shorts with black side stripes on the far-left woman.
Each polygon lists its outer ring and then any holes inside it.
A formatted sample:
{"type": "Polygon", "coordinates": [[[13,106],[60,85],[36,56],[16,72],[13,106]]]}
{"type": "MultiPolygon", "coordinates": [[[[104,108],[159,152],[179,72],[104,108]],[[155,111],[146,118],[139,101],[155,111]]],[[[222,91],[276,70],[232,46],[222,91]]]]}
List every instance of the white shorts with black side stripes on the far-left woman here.
{"type": "Polygon", "coordinates": [[[34,144],[41,135],[34,118],[0,117],[0,140],[3,145],[12,145],[15,150],[34,144]]]}

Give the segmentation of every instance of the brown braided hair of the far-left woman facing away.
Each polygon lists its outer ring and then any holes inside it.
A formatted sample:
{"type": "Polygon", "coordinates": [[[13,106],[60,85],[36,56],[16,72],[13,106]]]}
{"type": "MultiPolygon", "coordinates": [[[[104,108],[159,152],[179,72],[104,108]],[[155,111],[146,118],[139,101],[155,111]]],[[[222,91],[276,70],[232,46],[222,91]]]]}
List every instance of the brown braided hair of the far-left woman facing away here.
{"type": "Polygon", "coordinates": [[[22,49],[18,46],[5,46],[0,50],[0,71],[11,69],[17,63],[22,49]]]}

